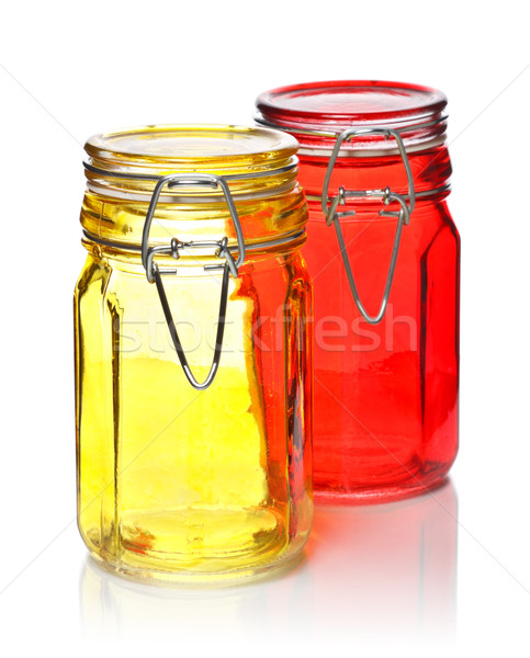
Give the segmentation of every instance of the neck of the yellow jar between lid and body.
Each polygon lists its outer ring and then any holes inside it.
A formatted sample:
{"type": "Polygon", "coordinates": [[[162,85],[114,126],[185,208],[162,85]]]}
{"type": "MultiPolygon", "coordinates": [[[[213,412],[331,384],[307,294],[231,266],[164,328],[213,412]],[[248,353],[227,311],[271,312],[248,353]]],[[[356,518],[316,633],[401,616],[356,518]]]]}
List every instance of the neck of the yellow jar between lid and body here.
{"type": "MultiPolygon", "coordinates": [[[[245,257],[240,263],[256,261],[268,254],[279,256],[297,249],[305,241],[307,204],[301,186],[295,183],[289,191],[266,197],[235,202],[245,257]]],[[[81,209],[84,229],[83,245],[89,251],[104,251],[105,257],[126,263],[139,260],[143,230],[148,212],[145,201],[112,197],[87,191],[81,209]]],[[[224,238],[236,260],[239,241],[233,216],[221,200],[194,200],[159,203],[150,226],[148,248],[157,250],[157,262],[171,262],[168,247],[177,240],[180,268],[212,266],[224,262],[221,253],[224,238]],[[189,243],[189,246],[187,246],[189,243]],[[221,258],[221,260],[219,260],[221,258]]]]}

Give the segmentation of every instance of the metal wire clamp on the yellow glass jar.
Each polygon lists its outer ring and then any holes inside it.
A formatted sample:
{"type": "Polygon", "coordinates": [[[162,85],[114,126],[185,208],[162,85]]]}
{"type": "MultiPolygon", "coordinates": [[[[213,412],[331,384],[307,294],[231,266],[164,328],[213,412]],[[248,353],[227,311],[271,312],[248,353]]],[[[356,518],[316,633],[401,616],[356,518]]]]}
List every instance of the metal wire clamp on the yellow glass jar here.
{"type": "Polygon", "coordinates": [[[214,175],[210,173],[170,173],[168,175],[161,177],[157,184],[155,185],[155,190],[153,192],[153,196],[149,203],[149,207],[147,209],[147,215],[145,218],[144,230],[142,235],[142,263],[146,271],[147,281],[149,283],[155,283],[158,291],[158,296],[160,297],[160,303],[162,305],[163,315],[166,316],[166,321],[168,324],[169,333],[174,344],[174,349],[177,350],[177,354],[179,356],[180,364],[184,374],[193,386],[198,390],[204,390],[207,388],[215,378],[217,373],[217,368],[219,366],[221,361],[221,352],[223,348],[223,336],[225,331],[225,321],[226,321],[226,302],[228,299],[228,283],[229,283],[229,274],[237,279],[238,268],[245,261],[245,240],[243,237],[241,224],[239,222],[239,216],[237,214],[237,209],[232,197],[230,191],[228,189],[228,183],[223,179],[223,177],[214,175]],[[177,186],[204,186],[208,189],[221,189],[224,194],[226,205],[228,206],[232,222],[234,224],[234,228],[237,237],[237,260],[234,260],[229,249],[228,249],[228,238],[225,236],[221,240],[193,240],[189,242],[181,242],[177,238],[172,238],[169,246],[157,246],[149,247],[149,232],[153,224],[153,217],[155,215],[155,211],[158,204],[158,200],[160,197],[160,193],[165,186],[169,189],[177,186]],[[219,316],[217,322],[217,334],[215,339],[215,350],[214,356],[212,361],[212,365],[210,367],[210,372],[204,379],[204,382],[200,383],[193,376],[191,372],[190,365],[188,363],[188,359],[185,356],[184,350],[182,348],[182,343],[180,342],[180,338],[177,331],[177,327],[173,321],[173,317],[171,314],[171,309],[169,306],[168,297],[166,295],[166,291],[163,288],[162,283],[162,274],[174,274],[174,270],[160,270],[158,264],[155,262],[154,258],[156,254],[166,254],[171,256],[173,259],[178,260],[180,258],[181,249],[201,249],[201,248],[212,248],[216,247],[217,250],[215,256],[217,258],[224,259],[224,264],[210,264],[204,265],[205,270],[223,270],[223,283],[221,286],[221,302],[219,302],[219,316]]]}

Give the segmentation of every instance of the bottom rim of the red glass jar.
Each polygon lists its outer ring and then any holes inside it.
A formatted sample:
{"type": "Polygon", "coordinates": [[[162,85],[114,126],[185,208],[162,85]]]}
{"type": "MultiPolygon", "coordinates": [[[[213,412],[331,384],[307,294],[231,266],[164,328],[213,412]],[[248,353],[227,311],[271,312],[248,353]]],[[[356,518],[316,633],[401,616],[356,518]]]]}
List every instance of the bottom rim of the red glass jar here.
{"type": "Polygon", "coordinates": [[[428,494],[442,487],[448,479],[448,475],[443,474],[439,478],[429,480],[428,483],[418,480],[409,484],[399,483],[396,485],[350,489],[332,488],[329,486],[319,487],[315,485],[314,498],[318,504],[379,504],[428,494]]]}

